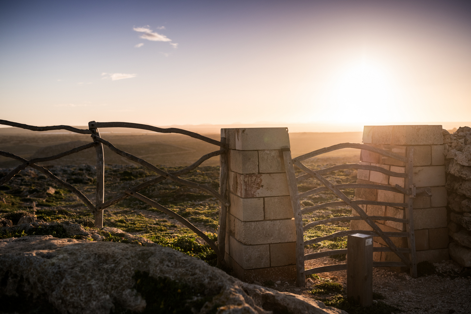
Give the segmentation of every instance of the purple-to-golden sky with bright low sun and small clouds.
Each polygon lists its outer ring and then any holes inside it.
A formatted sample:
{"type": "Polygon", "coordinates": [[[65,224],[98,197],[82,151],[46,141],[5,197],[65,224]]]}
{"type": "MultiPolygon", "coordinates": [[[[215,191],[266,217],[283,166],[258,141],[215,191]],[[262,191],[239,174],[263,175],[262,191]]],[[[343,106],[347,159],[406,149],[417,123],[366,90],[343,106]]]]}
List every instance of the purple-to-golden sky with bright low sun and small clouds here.
{"type": "Polygon", "coordinates": [[[466,1],[0,1],[0,119],[471,121],[466,1]]]}

